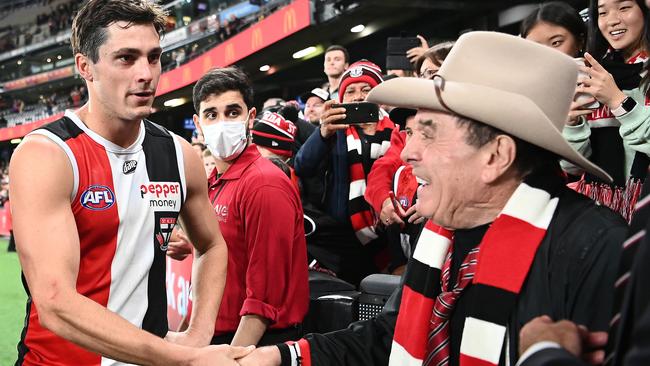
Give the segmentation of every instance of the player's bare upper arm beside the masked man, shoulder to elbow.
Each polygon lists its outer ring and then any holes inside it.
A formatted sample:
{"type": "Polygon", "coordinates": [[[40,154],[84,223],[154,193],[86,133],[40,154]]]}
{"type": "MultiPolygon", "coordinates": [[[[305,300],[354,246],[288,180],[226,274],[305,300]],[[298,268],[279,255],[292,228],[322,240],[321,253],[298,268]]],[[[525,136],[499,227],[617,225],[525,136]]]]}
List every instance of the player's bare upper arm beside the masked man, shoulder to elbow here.
{"type": "Polygon", "coordinates": [[[190,242],[199,252],[220,242],[219,222],[208,198],[208,183],[203,163],[187,141],[182,140],[187,197],[181,222],[190,242]]]}

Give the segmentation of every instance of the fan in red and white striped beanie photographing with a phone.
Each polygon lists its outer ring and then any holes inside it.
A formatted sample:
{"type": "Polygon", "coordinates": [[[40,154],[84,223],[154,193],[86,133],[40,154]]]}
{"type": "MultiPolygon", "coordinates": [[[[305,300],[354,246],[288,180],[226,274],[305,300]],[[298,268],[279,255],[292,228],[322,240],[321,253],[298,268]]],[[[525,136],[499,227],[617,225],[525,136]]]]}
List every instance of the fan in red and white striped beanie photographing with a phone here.
{"type": "Polygon", "coordinates": [[[351,283],[379,270],[373,257],[385,244],[375,229],[375,214],[363,195],[366,177],[375,160],[388,150],[395,124],[382,110],[373,115],[367,106],[352,105],[346,111],[334,104],[364,102],[370,90],[382,81],[382,70],[374,63],[361,60],[352,64],[341,76],[338,101],[324,104],[320,128],[307,139],[294,161],[296,174],[301,178],[319,174],[321,162],[327,161],[324,211],[353,238],[351,243],[328,247],[326,255],[316,259],[351,283]],[[355,106],[359,107],[360,120],[347,121],[355,106]],[[363,111],[368,115],[364,117],[363,111]]]}

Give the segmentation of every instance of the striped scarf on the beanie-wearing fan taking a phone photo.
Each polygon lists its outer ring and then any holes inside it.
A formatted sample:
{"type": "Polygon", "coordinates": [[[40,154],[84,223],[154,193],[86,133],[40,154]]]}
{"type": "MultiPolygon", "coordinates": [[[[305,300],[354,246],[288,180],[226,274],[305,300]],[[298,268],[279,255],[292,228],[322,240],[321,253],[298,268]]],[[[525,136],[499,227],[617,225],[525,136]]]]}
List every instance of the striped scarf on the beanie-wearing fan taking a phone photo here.
{"type": "MultiPolygon", "coordinates": [[[[375,135],[368,136],[370,142],[370,161],[366,162],[372,166],[375,160],[379,159],[386,153],[390,147],[390,135],[395,128],[395,124],[388,118],[385,113],[382,120],[377,123],[375,135]]],[[[375,238],[376,219],[368,202],[363,197],[366,192],[366,171],[364,169],[363,155],[361,152],[362,143],[354,125],[345,131],[348,148],[348,166],[350,168],[350,195],[348,197],[348,210],[350,213],[350,222],[357,239],[361,244],[368,244],[375,238]]],[[[368,166],[368,170],[370,170],[368,166]]]]}

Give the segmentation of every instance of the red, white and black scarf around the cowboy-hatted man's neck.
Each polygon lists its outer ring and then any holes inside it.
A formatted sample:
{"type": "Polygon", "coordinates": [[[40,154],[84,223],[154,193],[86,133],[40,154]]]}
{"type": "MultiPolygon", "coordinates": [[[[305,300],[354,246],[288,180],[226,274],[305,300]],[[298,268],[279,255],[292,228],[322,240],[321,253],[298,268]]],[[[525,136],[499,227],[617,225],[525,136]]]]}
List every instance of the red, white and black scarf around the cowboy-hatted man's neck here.
{"type": "MultiPolygon", "coordinates": [[[[558,178],[527,178],[485,233],[471,285],[477,301],[470,305],[461,340],[461,366],[498,365],[509,316],[553,218],[555,192],[562,184],[558,178]]],[[[453,232],[427,222],[405,274],[390,366],[422,365],[440,293],[440,269],[450,245],[453,232]]]]}

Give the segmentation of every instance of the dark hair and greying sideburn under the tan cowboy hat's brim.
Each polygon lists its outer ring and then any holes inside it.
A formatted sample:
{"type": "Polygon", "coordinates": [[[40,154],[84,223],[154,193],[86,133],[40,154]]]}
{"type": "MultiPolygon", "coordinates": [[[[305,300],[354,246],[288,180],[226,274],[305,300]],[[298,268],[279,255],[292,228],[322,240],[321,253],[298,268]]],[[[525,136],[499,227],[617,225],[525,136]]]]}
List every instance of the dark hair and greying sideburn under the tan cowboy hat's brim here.
{"type": "Polygon", "coordinates": [[[517,150],[512,166],[522,177],[532,173],[556,174],[560,171],[560,158],[556,154],[485,123],[458,115],[455,117],[456,124],[467,129],[465,142],[470,146],[480,148],[499,135],[512,138],[517,150]]]}

